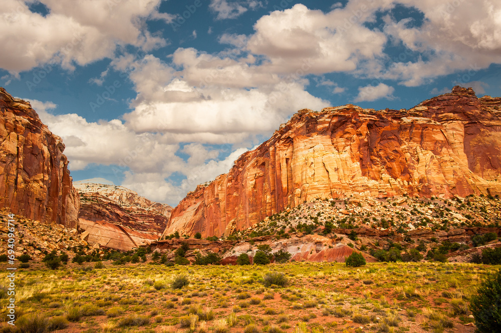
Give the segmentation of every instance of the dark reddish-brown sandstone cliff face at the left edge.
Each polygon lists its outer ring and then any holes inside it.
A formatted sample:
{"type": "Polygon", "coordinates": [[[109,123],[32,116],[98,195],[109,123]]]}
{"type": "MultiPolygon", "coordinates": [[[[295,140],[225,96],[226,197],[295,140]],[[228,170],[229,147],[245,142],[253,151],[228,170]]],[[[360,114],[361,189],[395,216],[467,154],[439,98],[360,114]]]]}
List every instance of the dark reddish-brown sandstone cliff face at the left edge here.
{"type": "Polygon", "coordinates": [[[60,137],[29,102],[0,87],[0,207],[42,222],[76,228],[79,198],[60,137]]]}

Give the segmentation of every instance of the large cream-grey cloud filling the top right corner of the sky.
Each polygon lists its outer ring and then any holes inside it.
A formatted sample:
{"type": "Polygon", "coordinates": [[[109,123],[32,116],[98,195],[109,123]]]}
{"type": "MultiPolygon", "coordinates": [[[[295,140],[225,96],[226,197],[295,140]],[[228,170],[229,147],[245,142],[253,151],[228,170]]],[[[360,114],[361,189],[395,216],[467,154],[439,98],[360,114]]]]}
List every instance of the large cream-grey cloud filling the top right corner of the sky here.
{"type": "Polygon", "coordinates": [[[457,71],[476,73],[490,64],[501,63],[501,3],[489,0],[402,3],[424,14],[423,25],[408,28],[408,19],[390,20],[384,31],[422,58],[380,67],[376,75],[414,87],[457,71]]]}

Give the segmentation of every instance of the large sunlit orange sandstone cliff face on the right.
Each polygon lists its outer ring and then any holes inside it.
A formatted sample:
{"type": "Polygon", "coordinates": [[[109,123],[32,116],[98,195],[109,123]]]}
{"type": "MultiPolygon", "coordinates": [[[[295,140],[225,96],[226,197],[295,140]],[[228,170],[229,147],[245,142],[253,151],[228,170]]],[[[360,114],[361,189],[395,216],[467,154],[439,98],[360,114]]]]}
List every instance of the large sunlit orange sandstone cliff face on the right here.
{"type": "Polygon", "coordinates": [[[471,88],[410,110],[301,110],[172,211],[165,234],[246,229],[315,198],[501,192],[501,99],[471,88]]]}

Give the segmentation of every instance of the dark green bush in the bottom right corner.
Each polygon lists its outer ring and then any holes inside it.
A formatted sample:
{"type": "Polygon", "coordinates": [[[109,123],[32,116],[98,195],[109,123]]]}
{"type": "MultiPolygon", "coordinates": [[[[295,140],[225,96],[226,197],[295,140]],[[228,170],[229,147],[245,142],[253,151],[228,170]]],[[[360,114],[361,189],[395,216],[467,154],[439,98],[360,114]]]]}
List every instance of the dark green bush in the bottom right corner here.
{"type": "Polygon", "coordinates": [[[501,331],[501,269],[487,276],[476,294],[471,296],[470,310],[475,317],[477,332],[501,331]]]}

